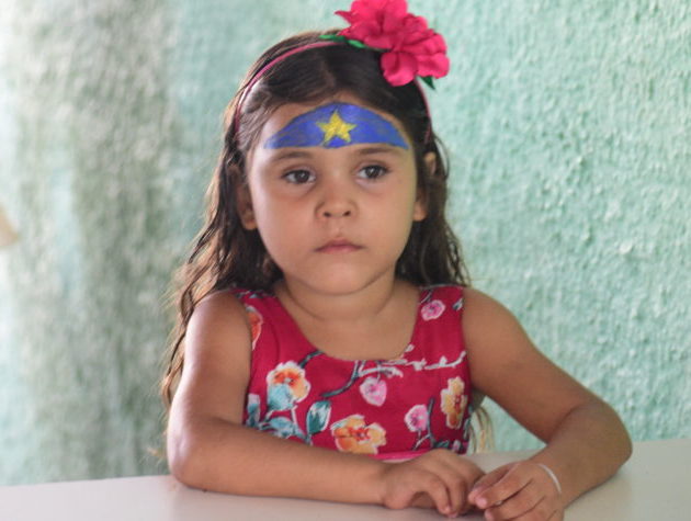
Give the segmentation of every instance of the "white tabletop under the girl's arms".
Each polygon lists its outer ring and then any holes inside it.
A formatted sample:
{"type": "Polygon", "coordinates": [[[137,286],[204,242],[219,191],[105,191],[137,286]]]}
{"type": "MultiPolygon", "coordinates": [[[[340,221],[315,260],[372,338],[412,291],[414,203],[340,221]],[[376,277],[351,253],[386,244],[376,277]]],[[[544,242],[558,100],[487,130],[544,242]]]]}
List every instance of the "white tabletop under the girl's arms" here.
{"type": "MultiPolygon", "coordinates": [[[[489,471],[530,452],[473,455],[489,471]]],[[[2,521],[440,520],[431,510],[387,510],[302,499],[192,490],[170,476],[0,487],[2,521]]],[[[480,520],[479,514],[462,519],[480,520]]],[[[567,521],[691,520],[691,440],[634,443],[612,479],[569,506],[567,521]]]]}

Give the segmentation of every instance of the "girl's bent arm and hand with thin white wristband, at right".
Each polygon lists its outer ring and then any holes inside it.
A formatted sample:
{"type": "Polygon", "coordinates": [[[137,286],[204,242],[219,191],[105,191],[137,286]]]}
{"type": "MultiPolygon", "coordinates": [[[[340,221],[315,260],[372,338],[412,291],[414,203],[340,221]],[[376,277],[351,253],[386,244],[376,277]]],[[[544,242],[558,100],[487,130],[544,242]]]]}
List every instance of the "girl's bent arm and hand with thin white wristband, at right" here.
{"type": "Polygon", "coordinates": [[[464,303],[473,386],[546,443],[530,460],[483,477],[469,500],[492,520],[560,519],[566,505],[628,458],[626,429],[610,406],[541,354],[503,306],[471,288],[464,303]]]}

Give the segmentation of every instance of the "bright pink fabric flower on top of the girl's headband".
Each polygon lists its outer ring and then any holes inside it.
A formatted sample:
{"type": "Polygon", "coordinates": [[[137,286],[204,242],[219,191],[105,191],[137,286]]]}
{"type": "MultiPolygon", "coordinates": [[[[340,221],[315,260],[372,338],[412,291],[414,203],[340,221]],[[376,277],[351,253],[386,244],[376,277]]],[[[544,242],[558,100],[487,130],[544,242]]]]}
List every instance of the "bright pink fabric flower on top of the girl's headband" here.
{"type": "Polygon", "coordinates": [[[350,26],[322,39],[381,52],[382,71],[392,86],[404,86],[420,77],[434,88],[432,78],[449,73],[444,38],[428,27],[422,16],[409,13],[406,0],[355,0],[350,11],[336,14],[350,26]]]}

